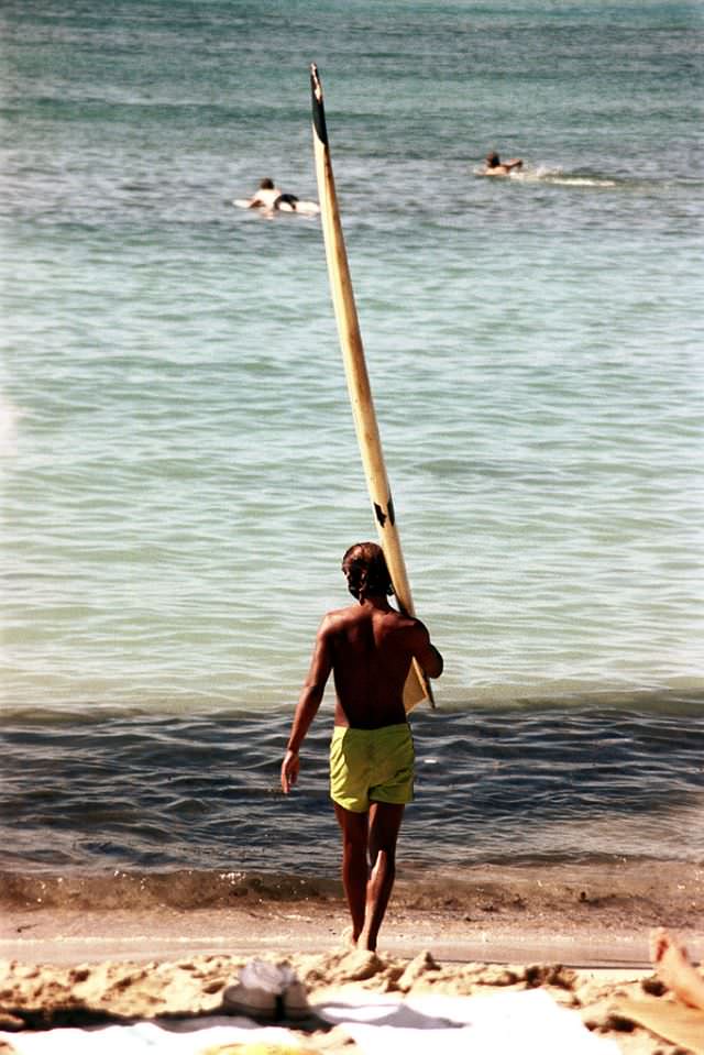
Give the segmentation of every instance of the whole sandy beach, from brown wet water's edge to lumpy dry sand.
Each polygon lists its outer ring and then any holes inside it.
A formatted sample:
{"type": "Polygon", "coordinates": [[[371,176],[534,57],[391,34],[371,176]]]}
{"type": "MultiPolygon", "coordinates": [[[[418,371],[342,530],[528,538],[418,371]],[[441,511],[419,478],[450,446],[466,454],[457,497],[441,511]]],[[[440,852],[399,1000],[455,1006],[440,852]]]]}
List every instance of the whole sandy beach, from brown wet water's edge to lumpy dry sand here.
{"type": "MultiPolygon", "coordinates": [[[[45,888],[48,905],[14,904],[3,917],[4,1049],[28,1029],[221,1015],[223,991],[257,957],[289,964],[314,1011],[341,994],[407,1000],[541,989],[625,1055],[700,1051],[646,1027],[634,1008],[647,1005],[657,1021],[663,1008],[679,1005],[649,961],[651,927],[676,933],[694,963],[704,955],[701,870],[683,867],[675,879],[656,869],[648,881],[641,873],[636,895],[629,872],[482,868],[469,886],[448,882],[433,895],[402,880],[376,955],[344,945],[346,911],[334,884],[278,900],[257,894],[255,884],[234,905],[183,911],[162,903],[139,912],[58,909],[45,888]]],[[[354,1051],[344,1025],[316,1014],[295,1032],[312,1051],[354,1051]]],[[[704,1025],[701,1035],[704,1043],[704,1025]]]]}

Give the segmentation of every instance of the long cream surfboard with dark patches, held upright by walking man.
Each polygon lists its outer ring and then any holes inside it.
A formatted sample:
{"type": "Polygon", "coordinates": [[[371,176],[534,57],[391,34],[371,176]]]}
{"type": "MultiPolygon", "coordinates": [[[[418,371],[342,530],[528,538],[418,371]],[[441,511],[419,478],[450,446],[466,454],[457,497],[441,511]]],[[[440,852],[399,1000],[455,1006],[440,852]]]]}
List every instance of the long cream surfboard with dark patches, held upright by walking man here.
{"type": "MultiPolygon", "coordinates": [[[[366,484],[374,510],[380,543],[386,557],[394,594],[402,612],[415,615],[406,562],[400,548],[394,502],[386,475],[382,441],[374,411],[360,323],[354,304],[352,279],[340,222],[338,198],[330,162],[330,146],[318,67],[310,67],[312,95],[312,140],[318,177],[320,217],[328,260],[330,290],[340,334],[344,372],[350,392],[356,438],[360,444],[366,484]]],[[[410,711],[421,700],[432,700],[432,690],[420,664],[414,660],[404,689],[404,705],[410,711]]]]}

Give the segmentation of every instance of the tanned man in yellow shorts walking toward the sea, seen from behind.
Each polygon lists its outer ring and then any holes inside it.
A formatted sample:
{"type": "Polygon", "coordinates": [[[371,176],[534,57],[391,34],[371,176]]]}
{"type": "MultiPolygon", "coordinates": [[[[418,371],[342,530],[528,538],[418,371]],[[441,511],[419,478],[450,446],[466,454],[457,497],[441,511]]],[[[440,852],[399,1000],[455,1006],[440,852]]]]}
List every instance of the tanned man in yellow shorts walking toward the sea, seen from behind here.
{"type": "Polygon", "coordinates": [[[352,943],[375,949],[394,886],[404,807],[414,794],[414,741],[404,684],[414,658],[430,678],[440,677],[443,660],[424,624],[389,605],[393,589],[380,546],[350,547],[342,571],[358,603],[329,612],[320,624],[280,779],[288,794],[300,769],[298,752],[332,672],[337,699],[330,798],[342,834],[342,881],[352,943]]]}

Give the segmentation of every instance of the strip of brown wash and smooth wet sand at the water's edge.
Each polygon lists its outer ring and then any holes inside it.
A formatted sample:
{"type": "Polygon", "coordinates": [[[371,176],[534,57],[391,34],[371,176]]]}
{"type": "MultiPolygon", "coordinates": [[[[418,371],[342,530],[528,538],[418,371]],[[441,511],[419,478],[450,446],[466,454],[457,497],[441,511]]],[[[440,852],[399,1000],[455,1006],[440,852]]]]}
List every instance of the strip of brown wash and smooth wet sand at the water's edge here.
{"type": "MultiPolygon", "coordinates": [[[[649,931],[664,926],[704,959],[704,868],[697,865],[475,866],[422,880],[400,872],[380,936],[380,949],[392,955],[427,950],[453,963],[647,968],[649,931]]],[[[4,888],[0,958],[77,964],[231,949],[295,955],[339,947],[348,926],[334,880],[230,872],[218,873],[216,888],[201,888],[204,873],[187,872],[185,888],[182,873],[175,876],[180,881],[122,872],[117,891],[116,877],[23,877],[21,889],[4,888]]]]}

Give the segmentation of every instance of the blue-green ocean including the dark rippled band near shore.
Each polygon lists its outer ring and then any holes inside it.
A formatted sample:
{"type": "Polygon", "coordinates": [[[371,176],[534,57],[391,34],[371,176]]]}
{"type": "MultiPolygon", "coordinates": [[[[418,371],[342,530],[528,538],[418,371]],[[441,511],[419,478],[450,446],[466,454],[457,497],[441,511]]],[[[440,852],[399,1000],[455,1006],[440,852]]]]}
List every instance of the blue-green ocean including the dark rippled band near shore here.
{"type": "Polygon", "coordinates": [[[0,866],[334,867],[330,701],[276,773],[374,525],[319,220],[232,204],[317,197],[310,62],[446,656],[406,860],[702,860],[701,7],[0,18],[0,866]]]}

